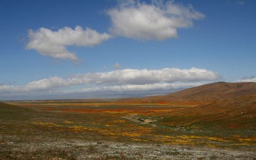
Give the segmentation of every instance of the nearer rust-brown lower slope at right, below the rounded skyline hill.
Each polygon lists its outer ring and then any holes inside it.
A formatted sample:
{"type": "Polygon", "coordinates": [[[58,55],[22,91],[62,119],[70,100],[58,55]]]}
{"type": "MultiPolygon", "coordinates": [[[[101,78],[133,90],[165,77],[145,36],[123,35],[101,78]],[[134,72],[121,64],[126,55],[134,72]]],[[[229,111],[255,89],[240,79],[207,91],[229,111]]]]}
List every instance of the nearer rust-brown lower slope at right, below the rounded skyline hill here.
{"type": "Polygon", "coordinates": [[[256,95],[188,107],[176,112],[166,112],[162,116],[163,124],[168,126],[252,129],[256,127],[256,95]]]}

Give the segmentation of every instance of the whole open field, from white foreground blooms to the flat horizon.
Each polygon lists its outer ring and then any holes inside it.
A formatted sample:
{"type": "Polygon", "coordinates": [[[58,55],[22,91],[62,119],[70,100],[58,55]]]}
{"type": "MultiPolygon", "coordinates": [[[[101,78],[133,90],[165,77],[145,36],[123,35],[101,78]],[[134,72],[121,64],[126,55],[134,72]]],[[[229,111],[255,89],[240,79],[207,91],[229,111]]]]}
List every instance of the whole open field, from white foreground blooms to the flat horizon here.
{"type": "Polygon", "coordinates": [[[236,116],[216,117],[218,109],[202,115],[193,104],[111,100],[10,104],[0,107],[1,159],[256,159],[255,114],[246,111],[252,117],[251,122],[245,119],[248,125],[236,116]]]}

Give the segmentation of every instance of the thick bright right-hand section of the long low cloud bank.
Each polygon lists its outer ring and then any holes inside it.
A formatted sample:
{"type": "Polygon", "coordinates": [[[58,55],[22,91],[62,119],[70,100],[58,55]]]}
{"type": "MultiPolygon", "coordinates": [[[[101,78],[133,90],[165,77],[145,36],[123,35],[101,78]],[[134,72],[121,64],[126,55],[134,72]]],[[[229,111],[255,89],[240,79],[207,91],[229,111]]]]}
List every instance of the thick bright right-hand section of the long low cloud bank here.
{"type": "Polygon", "coordinates": [[[207,69],[120,69],[106,73],[86,73],[68,79],[71,84],[155,84],[158,82],[200,82],[216,80],[218,73],[207,69]]]}

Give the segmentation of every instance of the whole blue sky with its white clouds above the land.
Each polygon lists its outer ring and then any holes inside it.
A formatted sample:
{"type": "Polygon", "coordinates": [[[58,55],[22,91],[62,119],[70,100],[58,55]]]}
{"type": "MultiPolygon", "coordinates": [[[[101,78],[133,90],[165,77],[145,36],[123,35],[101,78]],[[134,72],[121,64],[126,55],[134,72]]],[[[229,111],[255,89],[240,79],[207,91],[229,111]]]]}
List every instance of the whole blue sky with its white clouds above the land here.
{"type": "Polygon", "coordinates": [[[253,0],[1,0],[0,100],[256,82],[255,6],[253,0]]]}

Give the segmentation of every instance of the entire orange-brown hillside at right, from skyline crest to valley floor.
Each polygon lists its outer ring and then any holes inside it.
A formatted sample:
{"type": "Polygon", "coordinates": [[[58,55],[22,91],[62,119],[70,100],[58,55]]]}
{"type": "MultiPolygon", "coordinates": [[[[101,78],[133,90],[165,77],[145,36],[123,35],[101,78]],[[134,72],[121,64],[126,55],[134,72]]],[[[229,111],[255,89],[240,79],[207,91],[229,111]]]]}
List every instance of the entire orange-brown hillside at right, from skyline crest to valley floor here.
{"type": "MultiPolygon", "coordinates": [[[[138,101],[138,99],[136,99],[138,101]]],[[[256,83],[217,82],[140,101],[197,104],[161,116],[166,126],[256,127],[256,83]]]]}

